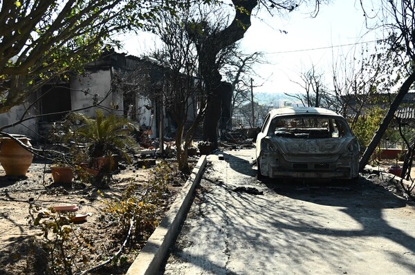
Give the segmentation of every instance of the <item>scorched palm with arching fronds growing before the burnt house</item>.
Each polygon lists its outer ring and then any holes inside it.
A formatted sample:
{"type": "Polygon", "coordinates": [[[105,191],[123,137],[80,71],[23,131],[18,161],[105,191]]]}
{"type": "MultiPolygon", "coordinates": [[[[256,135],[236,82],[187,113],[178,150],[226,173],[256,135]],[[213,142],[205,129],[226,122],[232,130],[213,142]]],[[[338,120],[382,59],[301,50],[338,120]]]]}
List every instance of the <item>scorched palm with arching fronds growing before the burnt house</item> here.
{"type": "MultiPolygon", "coordinates": [[[[135,153],[138,147],[130,135],[133,128],[124,117],[104,116],[98,109],[95,118],[69,113],[51,136],[65,144],[66,152],[60,157],[72,164],[81,180],[103,187],[118,169],[118,160],[131,161],[129,153],[135,153]]],[[[55,162],[58,160],[60,158],[55,158],[55,162]]]]}

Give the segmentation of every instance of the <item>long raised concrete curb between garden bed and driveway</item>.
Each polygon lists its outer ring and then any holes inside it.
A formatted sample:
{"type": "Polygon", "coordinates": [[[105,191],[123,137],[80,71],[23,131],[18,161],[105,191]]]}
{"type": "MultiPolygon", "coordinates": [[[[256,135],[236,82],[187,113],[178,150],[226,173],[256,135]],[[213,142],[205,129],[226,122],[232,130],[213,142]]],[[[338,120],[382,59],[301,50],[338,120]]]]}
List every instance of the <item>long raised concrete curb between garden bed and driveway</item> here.
{"type": "Polygon", "coordinates": [[[201,155],[192,174],[183,185],[183,189],[178,194],[176,200],[174,200],[172,207],[167,211],[160,225],[151,234],[147,244],[129,267],[127,275],[158,274],[160,265],[163,263],[165,256],[167,256],[172,241],[177,236],[178,227],[185,214],[187,214],[193,191],[201,180],[205,165],[206,155],[201,155]]]}

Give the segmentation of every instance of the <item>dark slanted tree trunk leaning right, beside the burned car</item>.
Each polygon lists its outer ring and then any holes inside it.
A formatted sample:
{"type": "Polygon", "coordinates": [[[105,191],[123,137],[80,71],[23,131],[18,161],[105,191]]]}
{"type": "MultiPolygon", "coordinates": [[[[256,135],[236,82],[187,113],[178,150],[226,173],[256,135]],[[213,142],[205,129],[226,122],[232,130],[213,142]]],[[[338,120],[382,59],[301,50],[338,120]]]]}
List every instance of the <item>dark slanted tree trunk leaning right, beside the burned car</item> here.
{"type": "Polygon", "coordinates": [[[374,137],[372,138],[371,142],[367,146],[367,149],[365,153],[363,153],[362,158],[359,162],[359,170],[362,171],[365,169],[365,166],[367,162],[369,162],[369,159],[376,150],[376,146],[378,146],[380,139],[382,138],[382,135],[385,133],[387,127],[389,126],[389,123],[394,118],[394,114],[396,110],[398,109],[398,106],[400,102],[402,102],[403,97],[407,94],[409,91],[409,88],[411,88],[412,84],[415,82],[415,72],[409,75],[409,77],[403,82],[402,86],[400,86],[398,95],[396,95],[394,101],[391,103],[391,106],[389,106],[389,110],[387,111],[387,114],[383,118],[382,123],[380,124],[378,131],[376,131],[374,137]]]}

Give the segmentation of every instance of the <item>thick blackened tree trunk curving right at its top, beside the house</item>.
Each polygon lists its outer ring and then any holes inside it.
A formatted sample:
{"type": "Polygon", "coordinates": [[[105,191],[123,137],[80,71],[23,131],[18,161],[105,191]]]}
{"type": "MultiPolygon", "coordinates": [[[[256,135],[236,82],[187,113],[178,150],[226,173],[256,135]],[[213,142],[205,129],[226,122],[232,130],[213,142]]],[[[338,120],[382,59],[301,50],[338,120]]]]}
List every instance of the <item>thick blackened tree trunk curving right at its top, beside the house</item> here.
{"type": "MultiPolygon", "coordinates": [[[[199,22],[200,28],[190,28],[190,37],[196,44],[199,53],[199,70],[205,89],[208,94],[208,108],[203,121],[203,140],[213,142],[214,148],[217,148],[217,124],[221,113],[221,74],[219,66],[216,63],[217,56],[221,50],[232,46],[243,35],[251,25],[252,10],[261,6],[268,12],[272,13],[287,11],[291,12],[299,7],[303,0],[283,0],[283,1],[266,1],[266,0],[232,0],[234,8],[234,17],[229,26],[219,32],[209,33],[205,31],[203,21],[199,22]]],[[[315,14],[317,14],[321,0],[315,1],[315,14]]]]}

